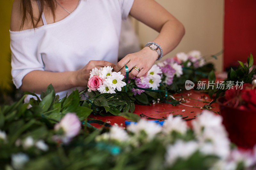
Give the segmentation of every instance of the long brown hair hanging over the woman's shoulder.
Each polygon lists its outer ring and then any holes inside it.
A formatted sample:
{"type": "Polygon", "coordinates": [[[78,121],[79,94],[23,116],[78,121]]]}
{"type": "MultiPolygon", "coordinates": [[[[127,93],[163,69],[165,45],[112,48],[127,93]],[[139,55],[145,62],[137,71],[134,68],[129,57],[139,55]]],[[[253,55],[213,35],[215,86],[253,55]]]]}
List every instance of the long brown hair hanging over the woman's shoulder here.
{"type": "Polygon", "coordinates": [[[21,1],[21,3],[20,3],[21,11],[23,13],[20,29],[23,28],[27,17],[31,21],[33,28],[36,28],[38,22],[41,19],[45,5],[51,9],[52,14],[53,14],[53,19],[55,19],[55,14],[54,14],[54,11],[56,8],[55,0],[39,0],[40,4],[41,4],[41,10],[40,10],[39,16],[33,15],[32,1],[36,1],[36,0],[20,0],[20,1],[21,1]]]}

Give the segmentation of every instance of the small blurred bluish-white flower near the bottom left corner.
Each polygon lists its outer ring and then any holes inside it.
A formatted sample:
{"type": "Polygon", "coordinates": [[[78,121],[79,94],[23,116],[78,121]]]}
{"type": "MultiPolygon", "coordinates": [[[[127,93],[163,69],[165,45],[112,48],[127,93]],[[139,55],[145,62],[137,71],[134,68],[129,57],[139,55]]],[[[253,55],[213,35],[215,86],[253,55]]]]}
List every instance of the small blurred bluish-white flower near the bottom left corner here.
{"type": "Polygon", "coordinates": [[[28,161],[28,155],[25,153],[12,154],[12,167],[14,169],[23,169],[28,161]]]}

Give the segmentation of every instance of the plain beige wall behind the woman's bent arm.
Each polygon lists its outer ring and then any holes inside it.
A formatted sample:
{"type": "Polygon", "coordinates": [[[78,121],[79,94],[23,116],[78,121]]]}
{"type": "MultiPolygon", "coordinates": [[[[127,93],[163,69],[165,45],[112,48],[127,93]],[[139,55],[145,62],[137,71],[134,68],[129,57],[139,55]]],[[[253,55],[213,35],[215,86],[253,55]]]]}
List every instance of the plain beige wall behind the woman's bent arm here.
{"type": "MultiPolygon", "coordinates": [[[[171,53],[200,50],[203,55],[218,53],[223,48],[223,0],[156,0],[185,26],[186,34],[171,53]]],[[[142,44],[152,41],[157,32],[138,23],[137,32],[142,44]]],[[[222,56],[212,60],[218,71],[222,70],[222,56]]]]}

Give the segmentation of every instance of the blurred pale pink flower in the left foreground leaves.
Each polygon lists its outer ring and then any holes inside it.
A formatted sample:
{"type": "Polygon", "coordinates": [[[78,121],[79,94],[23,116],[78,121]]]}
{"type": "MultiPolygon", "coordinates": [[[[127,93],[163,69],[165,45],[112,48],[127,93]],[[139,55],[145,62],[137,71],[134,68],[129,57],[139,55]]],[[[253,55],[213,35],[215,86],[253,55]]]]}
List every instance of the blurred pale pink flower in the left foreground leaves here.
{"type": "Polygon", "coordinates": [[[81,122],[75,113],[67,113],[61,119],[60,123],[55,124],[54,129],[56,131],[62,129],[64,131],[64,135],[60,138],[62,142],[68,143],[73,137],[79,134],[81,122]]]}

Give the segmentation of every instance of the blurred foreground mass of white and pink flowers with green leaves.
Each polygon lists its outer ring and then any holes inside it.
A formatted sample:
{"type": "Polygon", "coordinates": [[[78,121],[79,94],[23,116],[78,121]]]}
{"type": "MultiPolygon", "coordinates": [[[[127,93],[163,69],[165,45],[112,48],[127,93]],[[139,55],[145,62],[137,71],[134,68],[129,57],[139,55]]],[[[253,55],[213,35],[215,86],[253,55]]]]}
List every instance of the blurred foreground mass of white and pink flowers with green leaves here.
{"type": "Polygon", "coordinates": [[[204,111],[190,129],[181,117],[169,116],[161,126],[128,114],[138,122],[95,129],[79,111],[85,106],[78,106],[77,91],[59,101],[50,89],[30,108],[23,99],[1,107],[1,169],[255,168],[256,151],[232,148],[219,115],[204,111]],[[79,109],[67,112],[73,109],[67,102],[79,109]]]}

